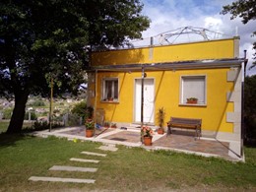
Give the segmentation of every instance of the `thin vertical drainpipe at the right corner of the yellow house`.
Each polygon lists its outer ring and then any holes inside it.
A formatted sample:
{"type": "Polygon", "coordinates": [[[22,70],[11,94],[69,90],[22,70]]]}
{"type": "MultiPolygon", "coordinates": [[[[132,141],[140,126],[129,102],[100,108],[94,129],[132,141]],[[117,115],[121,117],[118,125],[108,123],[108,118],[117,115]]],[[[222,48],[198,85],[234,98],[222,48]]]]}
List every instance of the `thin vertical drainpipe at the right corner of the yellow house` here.
{"type": "Polygon", "coordinates": [[[247,50],[244,50],[244,62],[243,62],[243,80],[242,80],[242,111],[241,111],[241,154],[240,157],[243,157],[243,139],[245,135],[245,127],[244,127],[244,81],[246,77],[246,66],[248,63],[248,59],[246,59],[246,52],[247,50]]]}

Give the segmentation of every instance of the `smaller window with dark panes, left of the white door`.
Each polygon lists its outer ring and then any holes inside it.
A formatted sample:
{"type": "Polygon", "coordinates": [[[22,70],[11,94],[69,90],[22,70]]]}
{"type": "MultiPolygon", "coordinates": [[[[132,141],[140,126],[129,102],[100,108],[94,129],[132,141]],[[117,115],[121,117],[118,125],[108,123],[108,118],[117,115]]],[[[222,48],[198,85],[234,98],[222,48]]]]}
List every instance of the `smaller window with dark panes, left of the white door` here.
{"type": "Polygon", "coordinates": [[[102,85],[102,100],[117,101],[118,100],[118,79],[107,78],[103,79],[102,85]]]}

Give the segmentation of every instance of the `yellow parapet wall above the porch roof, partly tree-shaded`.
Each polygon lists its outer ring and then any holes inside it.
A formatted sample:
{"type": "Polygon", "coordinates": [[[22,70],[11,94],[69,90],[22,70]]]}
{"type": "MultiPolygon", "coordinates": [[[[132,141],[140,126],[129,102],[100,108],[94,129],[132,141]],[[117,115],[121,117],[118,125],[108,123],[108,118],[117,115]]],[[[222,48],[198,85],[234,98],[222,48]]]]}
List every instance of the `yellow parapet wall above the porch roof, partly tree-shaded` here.
{"type": "Polygon", "coordinates": [[[234,38],[94,52],[92,65],[122,65],[234,57],[234,38]]]}

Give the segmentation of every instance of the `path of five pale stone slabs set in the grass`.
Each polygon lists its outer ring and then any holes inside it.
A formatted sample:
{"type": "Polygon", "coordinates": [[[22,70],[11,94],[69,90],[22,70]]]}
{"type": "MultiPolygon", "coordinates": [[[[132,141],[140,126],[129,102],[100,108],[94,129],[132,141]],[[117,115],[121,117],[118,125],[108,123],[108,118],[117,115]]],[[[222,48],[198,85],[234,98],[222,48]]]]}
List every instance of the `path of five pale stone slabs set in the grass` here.
{"type": "MultiPolygon", "coordinates": [[[[116,152],[118,148],[115,145],[103,145],[98,148],[102,151],[110,151],[116,152]]],[[[81,152],[81,154],[88,156],[96,156],[96,157],[106,157],[106,154],[100,154],[95,152],[81,152]]],[[[93,162],[98,163],[99,160],[87,160],[87,159],[77,159],[71,158],[72,161],[79,162],[93,162]]],[[[69,165],[53,165],[49,168],[50,171],[76,171],[76,172],[96,172],[97,168],[92,167],[81,167],[81,166],[69,166],[69,165]]],[[[62,177],[46,177],[46,176],[31,176],[29,178],[31,181],[47,181],[47,182],[72,182],[72,183],[95,183],[94,179],[81,179],[81,178],[62,178],[62,177]]]]}

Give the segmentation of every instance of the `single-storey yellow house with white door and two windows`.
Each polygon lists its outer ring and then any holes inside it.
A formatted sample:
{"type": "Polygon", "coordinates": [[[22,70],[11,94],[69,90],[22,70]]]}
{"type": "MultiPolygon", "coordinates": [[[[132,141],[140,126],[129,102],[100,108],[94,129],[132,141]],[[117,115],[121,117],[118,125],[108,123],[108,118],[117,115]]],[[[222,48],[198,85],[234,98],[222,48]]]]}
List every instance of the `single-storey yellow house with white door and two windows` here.
{"type": "MultiPolygon", "coordinates": [[[[105,121],[121,126],[158,126],[158,110],[202,119],[202,136],[241,140],[241,83],[244,59],[239,37],[95,51],[91,56],[88,104],[105,121]],[[143,90],[142,90],[143,81],[143,90]],[[142,111],[143,98],[143,119],[142,111]],[[187,103],[187,98],[198,98],[187,103]]],[[[232,147],[231,147],[232,148],[232,147]]]]}

